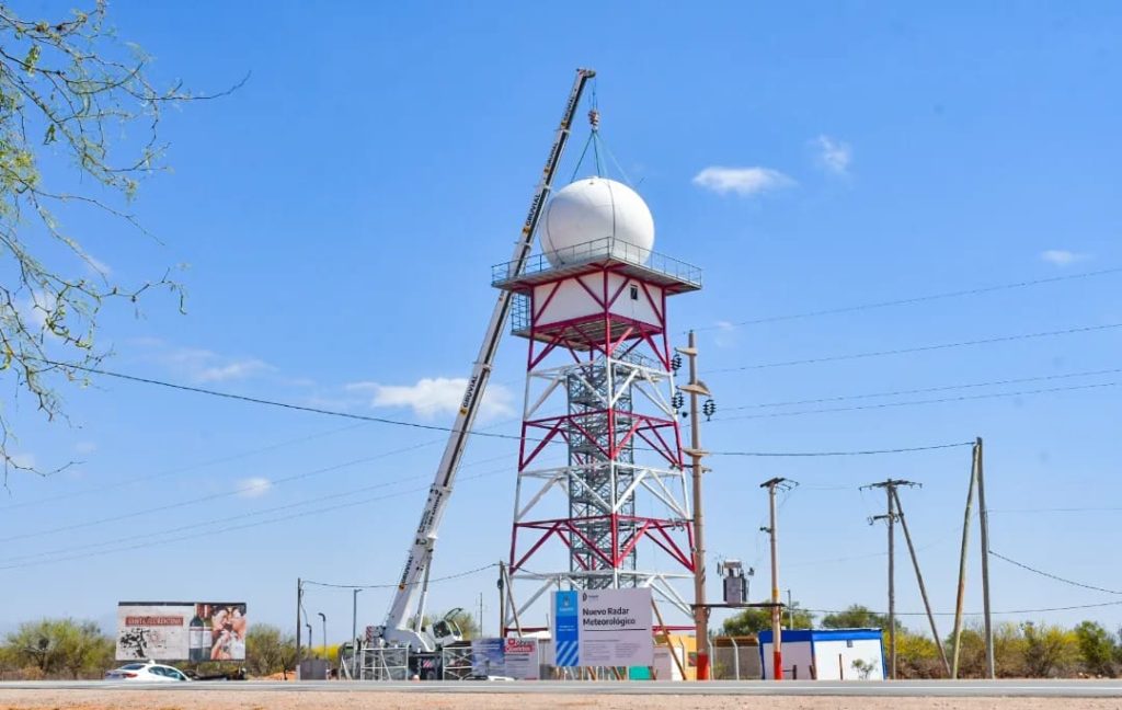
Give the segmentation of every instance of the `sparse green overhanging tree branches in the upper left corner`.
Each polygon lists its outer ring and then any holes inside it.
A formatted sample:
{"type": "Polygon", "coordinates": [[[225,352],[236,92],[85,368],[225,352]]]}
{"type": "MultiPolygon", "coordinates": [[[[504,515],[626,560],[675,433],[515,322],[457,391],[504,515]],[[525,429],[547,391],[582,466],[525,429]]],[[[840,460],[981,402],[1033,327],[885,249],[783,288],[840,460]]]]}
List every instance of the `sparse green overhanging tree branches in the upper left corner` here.
{"type": "MultiPolygon", "coordinates": [[[[63,227],[108,214],[140,228],[129,204],[159,168],[162,111],[193,96],[157,86],[150,58],[117,39],[104,0],[67,17],[25,19],[0,3],[0,371],[48,419],[64,416],[57,387],[85,382],[105,356],[95,342],[110,301],[136,304],[163,278],[123,285],[63,227]]],[[[0,463],[30,470],[9,446],[0,411],[0,463]]]]}

